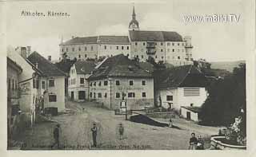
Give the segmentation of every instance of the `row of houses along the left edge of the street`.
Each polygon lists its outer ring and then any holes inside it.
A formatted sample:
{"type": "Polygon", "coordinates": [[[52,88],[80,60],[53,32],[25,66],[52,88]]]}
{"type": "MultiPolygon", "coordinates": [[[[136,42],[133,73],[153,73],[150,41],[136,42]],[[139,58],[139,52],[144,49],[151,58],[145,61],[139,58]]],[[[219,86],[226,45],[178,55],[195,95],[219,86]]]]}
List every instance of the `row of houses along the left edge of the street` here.
{"type": "Polygon", "coordinates": [[[34,125],[45,108],[65,109],[65,73],[39,53],[9,48],[7,52],[8,133],[34,125]],[[22,52],[21,52],[22,51],[22,52]]]}

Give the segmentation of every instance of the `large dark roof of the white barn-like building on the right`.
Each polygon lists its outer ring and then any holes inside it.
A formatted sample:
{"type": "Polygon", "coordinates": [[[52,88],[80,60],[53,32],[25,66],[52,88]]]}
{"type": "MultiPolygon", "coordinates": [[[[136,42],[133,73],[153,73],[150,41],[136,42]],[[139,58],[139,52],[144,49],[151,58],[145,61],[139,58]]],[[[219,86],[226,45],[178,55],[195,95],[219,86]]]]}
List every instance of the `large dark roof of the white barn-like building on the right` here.
{"type": "Polygon", "coordinates": [[[184,65],[154,72],[156,88],[205,87],[206,77],[194,66],[184,65]]]}

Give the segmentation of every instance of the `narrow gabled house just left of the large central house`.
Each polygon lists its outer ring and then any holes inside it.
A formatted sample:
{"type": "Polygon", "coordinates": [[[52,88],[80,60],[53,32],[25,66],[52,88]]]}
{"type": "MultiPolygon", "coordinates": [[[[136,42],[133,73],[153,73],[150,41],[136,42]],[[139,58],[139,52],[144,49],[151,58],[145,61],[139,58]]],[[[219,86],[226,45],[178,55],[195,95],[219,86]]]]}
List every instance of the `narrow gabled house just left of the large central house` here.
{"type": "Polygon", "coordinates": [[[89,100],[89,80],[95,67],[94,61],[76,61],[70,68],[68,93],[71,100],[89,100]]]}

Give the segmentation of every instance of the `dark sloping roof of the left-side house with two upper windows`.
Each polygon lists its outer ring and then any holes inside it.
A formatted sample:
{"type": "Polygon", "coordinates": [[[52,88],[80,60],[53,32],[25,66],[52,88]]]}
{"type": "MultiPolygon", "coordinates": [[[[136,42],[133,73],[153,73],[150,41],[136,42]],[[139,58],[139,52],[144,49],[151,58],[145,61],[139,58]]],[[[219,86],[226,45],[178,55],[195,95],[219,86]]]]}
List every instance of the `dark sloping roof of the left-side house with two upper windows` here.
{"type": "Polygon", "coordinates": [[[27,60],[30,61],[34,66],[38,63],[38,69],[45,76],[65,76],[65,73],[62,70],[58,69],[46,58],[42,57],[39,53],[31,53],[27,60]]]}

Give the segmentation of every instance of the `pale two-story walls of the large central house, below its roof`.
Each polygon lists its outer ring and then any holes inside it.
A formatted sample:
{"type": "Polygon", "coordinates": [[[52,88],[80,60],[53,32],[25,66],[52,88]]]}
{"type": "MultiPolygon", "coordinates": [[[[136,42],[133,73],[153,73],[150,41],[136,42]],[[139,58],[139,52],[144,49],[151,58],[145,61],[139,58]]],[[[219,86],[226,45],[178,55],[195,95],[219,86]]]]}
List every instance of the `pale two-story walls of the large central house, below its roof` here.
{"type": "Polygon", "coordinates": [[[154,80],[153,78],[121,78],[112,77],[107,85],[104,85],[104,80],[90,80],[91,100],[103,103],[106,108],[118,108],[122,101],[122,92],[126,93],[125,100],[127,108],[145,108],[154,106],[154,80]],[[119,80],[120,85],[116,85],[116,80],[119,80]],[[129,80],[134,81],[134,85],[129,84],[129,80]],[[142,80],[146,80],[146,85],[142,85],[142,80]],[[101,81],[101,86],[99,82],[101,81]],[[96,86],[94,85],[96,83],[96,86]],[[116,93],[120,93],[120,97],[116,97],[116,93]],[[128,97],[128,92],[134,92],[134,97],[128,97]],[[146,92],[146,97],[142,97],[142,92],[146,92]],[[94,98],[95,93],[95,98],[94,98]],[[102,97],[98,97],[98,93],[102,93],[102,97]],[[105,97],[106,94],[106,97],[105,97]]]}

